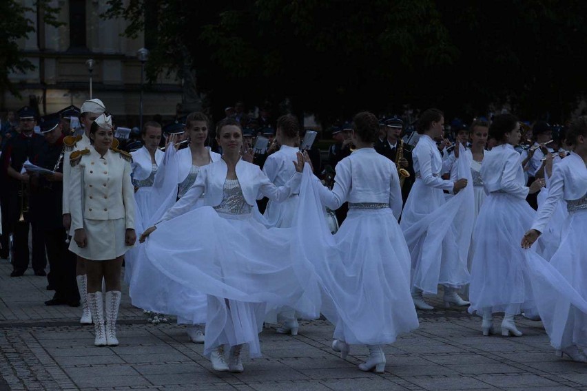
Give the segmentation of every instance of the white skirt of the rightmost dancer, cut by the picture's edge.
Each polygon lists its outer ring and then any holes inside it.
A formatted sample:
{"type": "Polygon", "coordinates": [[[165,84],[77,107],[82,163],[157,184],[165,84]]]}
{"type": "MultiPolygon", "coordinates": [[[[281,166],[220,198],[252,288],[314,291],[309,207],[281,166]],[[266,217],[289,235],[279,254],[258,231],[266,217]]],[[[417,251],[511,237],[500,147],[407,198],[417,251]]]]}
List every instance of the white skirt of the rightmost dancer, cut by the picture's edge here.
{"type": "Polygon", "coordinates": [[[550,264],[526,251],[542,324],[554,348],[587,346],[587,210],[571,212],[550,264]]]}

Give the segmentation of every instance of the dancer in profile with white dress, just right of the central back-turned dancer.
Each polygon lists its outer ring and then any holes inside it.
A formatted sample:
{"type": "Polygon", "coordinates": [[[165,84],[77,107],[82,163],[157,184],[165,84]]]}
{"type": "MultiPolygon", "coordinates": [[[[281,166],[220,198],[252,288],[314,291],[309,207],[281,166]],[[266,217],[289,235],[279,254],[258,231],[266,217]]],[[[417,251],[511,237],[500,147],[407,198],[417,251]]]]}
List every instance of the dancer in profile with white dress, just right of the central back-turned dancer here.
{"type": "Polygon", "coordinates": [[[439,284],[444,285],[446,306],[468,304],[456,291],[469,279],[466,257],[473,226],[473,193],[469,187],[445,201],[443,190],[458,193],[465,189],[471,168],[460,171],[455,181],[440,178],[442,157],[434,140],[443,132],[440,110],[428,109],[420,116],[418,133],[422,136],[412,151],[416,180],[400,222],[411,253],[413,303],[421,310],[433,309],[422,293],[436,294],[439,284]],[[461,239],[462,243],[457,242],[461,239]]]}

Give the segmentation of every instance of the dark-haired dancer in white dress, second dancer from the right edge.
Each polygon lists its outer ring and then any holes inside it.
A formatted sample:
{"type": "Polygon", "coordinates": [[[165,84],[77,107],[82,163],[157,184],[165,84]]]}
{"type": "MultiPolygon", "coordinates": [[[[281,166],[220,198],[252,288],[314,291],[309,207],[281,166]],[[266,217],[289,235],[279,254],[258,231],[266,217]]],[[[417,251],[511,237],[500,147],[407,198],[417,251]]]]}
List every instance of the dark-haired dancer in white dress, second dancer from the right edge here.
{"type": "Polygon", "coordinates": [[[502,335],[520,336],[513,317],[535,304],[516,237],[524,234],[535,215],[526,196],[544,186],[544,180],[536,180],[529,189],[524,186],[521,156],[513,148],[521,137],[515,116],[496,116],[489,131],[498,144],[485,156],[481,168],[488,196],[473,234],[469,312],[483,314],[483,335],[493,332],[493,313],[504,312],[502,335]]]}

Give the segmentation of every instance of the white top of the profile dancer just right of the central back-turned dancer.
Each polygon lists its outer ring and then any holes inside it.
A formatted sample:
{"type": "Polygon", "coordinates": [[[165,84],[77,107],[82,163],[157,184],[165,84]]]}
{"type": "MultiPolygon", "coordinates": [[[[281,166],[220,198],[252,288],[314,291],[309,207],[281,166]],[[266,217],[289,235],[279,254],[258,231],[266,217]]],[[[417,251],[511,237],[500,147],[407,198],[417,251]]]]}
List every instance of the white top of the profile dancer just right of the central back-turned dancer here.
{"type": "Polygon", "coordinates": [[[455,186],[451,180],[440,178],[442,174],[442,156],[432,138],[426,134],[420,136],[418,144],[412,151],[416,178],[422,178],[424,184],[442,190],[453,190],[455,186]]]}

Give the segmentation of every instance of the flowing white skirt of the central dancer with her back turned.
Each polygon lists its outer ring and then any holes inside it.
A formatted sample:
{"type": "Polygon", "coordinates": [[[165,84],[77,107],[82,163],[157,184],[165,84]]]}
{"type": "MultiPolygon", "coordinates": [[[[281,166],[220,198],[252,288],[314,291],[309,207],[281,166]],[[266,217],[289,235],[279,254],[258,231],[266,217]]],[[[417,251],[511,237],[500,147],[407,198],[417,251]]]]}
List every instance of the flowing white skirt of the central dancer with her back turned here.
{"type": "Polygon", "coordinates": [[[418,328],[410,288],[410,256],[391,209],[351,209],[331,235],[320,206],[318,180],[305,172],[297,237],[302,257],[322,283],[322,314],[347,344],[391,344],[418,328]]]}

